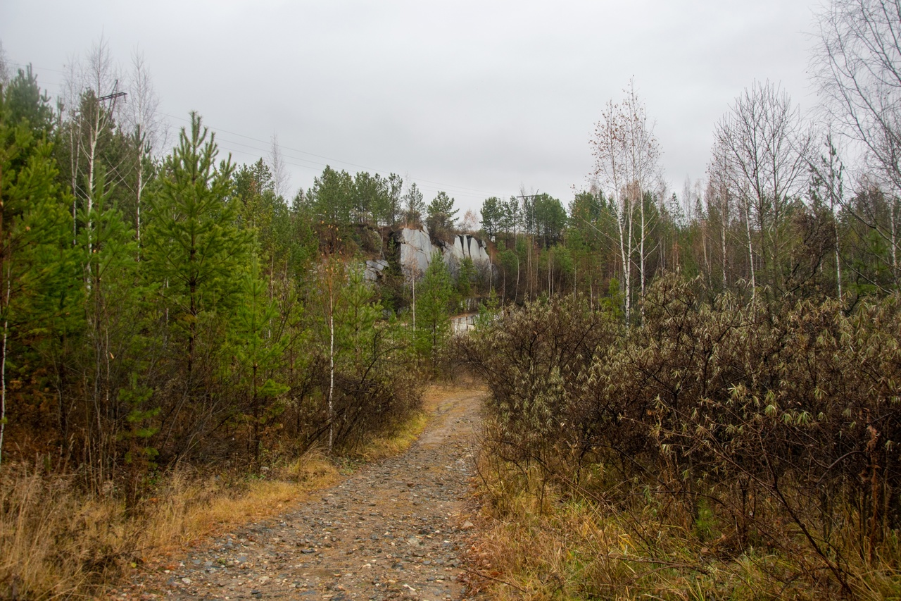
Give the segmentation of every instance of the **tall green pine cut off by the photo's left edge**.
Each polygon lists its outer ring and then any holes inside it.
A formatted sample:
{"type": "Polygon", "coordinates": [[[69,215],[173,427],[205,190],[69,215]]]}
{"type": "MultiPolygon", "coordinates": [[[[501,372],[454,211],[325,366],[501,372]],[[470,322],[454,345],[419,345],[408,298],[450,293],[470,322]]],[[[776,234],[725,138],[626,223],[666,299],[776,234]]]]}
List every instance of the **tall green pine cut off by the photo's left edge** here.
{"type": "MultiPolygon", "coordinates": [[[[57,426],[64,438],[62,397],[50,393],[59,387],[43,385],[38,373],[41,356],[57,358],[59,340],[77,329],[68,195],[56,183],[59,171],[44,129],[49,125],[41,121],[44,100],[40,94],[16,96],[16,89],[0,88],[0,460],[11,416],[55,407],[57,423],[41,425],[57,426]],[[29,101],[35,106],[23,105],[29,101]],[[11,379],[37,385],[13,392],[11,379]]],[[[42,376],[58,384],[54,376],[65,368],[52,365],[42,376]]]]}

